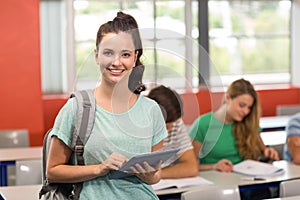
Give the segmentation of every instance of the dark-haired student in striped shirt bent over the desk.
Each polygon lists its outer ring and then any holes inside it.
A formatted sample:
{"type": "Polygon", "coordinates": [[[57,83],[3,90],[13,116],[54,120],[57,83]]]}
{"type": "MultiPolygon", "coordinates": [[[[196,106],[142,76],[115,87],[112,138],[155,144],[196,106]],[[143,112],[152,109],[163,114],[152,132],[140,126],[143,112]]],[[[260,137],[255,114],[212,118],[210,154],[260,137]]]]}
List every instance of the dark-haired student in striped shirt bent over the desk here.
{"type": "Polygon", "coordinates": [[[168,137],[163,140],[163,149],[180,148],[175,164],[162,169],[162,178],[184,178],[198,175],[197,159],[182,120],[183,103],[176,91],[165,86],[153,88],[148,97],[161,107],[166,120],[168,137]]]}

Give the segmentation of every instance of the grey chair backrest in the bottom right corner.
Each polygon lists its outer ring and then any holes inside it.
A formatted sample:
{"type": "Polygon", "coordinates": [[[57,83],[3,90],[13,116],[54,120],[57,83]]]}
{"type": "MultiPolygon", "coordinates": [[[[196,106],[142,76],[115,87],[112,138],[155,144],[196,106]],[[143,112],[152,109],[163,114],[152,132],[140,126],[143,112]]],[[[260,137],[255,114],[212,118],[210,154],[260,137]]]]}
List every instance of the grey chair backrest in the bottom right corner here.
{"type": "Polygon", "coordinates": [[[279,196],[290,197],[300,195],[300,179],[283,181],[279,185],[279,196]]]}

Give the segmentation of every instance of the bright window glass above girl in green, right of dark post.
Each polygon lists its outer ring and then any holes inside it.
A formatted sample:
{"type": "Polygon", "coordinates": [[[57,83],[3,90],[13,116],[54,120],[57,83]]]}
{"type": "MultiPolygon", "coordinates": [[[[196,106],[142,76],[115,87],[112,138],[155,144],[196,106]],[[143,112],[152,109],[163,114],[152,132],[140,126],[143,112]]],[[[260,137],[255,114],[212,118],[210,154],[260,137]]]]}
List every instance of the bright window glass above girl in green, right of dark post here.
{"type": "Polygon", "coordinates": [[[290,1],[209,1],[209,55],[226,84],[290,82],[290,1]]]}

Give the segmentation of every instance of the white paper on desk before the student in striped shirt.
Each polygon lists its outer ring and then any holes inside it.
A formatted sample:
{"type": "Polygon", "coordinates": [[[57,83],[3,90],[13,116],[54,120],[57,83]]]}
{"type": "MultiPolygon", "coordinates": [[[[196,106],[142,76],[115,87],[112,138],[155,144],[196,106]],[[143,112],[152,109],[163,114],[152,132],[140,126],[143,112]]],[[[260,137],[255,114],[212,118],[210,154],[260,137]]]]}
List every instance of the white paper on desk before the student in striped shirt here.
{"type": "Polygon", "coordinates": [[[191,178],[179,178],[179,179],[161,179],[158,183],[153,184],[154,190],[170,189],[170,188],[187,188],[197,187],[204,185],[213,185],[214,183],[208,181],[200,176],[191,178]]]}

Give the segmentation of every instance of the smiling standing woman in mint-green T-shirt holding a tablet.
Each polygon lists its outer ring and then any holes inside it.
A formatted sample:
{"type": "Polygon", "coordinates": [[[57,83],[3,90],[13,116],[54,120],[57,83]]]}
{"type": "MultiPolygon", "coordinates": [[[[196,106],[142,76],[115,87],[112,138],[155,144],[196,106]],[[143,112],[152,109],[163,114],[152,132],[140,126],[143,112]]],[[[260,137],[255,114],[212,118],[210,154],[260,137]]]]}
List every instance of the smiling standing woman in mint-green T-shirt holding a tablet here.
{"type": "Polygon", "coordinates": [[[96,113],[85,145],[86,165],[67,164],[77,110],[71,98],[60,110],[52,131],[46,171],[49,182],[83,182],[80,199],[158,199],[150,185],[161,178],[160,163],[136,165],[132,169],[136,176],[109,178],[133,155],[162,149],[167,136],[158,104],[139,95],[145,89],[141,81],[132,83],[130,74],[139,70],[142,53],[138,25],[132,16],[118,12],[100,26],[95,59],[102,80],[94,89],[96,113]]]}

